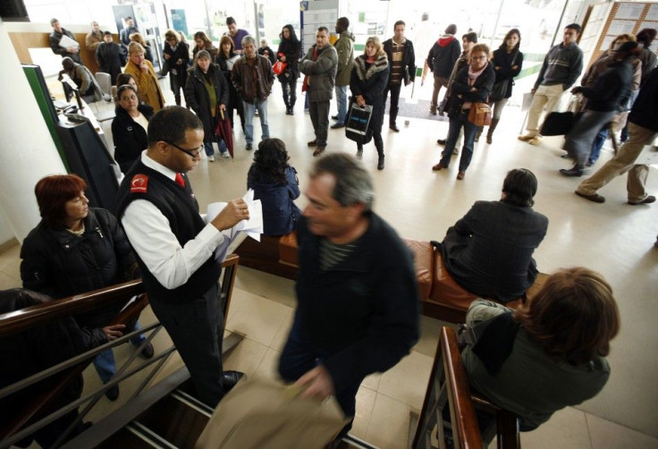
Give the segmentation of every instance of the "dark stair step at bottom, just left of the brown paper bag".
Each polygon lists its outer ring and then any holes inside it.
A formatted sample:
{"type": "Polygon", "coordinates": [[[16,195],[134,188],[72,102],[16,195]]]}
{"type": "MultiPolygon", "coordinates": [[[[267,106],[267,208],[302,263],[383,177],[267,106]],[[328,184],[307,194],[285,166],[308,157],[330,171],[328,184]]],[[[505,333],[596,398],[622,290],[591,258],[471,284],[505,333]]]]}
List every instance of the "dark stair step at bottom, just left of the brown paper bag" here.
{"type": "Polygon", "coordinates": [[[206,405],[195,402],[187,394],[174,392],[139,415],[133,424],[148,428],[174,447],[192,448],[212,414],[205,410],[206,405]]]}

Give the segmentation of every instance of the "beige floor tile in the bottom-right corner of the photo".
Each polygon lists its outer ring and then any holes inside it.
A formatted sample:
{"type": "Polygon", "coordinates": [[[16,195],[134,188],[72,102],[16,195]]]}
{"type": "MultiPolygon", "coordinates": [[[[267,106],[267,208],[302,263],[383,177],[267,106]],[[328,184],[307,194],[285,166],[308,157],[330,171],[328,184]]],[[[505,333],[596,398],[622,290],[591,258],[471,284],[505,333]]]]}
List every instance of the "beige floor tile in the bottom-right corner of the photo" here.
{"type": "Polygon", "coordinates": [[[648,436],[586,413],[592,449],[655,449],[658,438],[648,436]]]}

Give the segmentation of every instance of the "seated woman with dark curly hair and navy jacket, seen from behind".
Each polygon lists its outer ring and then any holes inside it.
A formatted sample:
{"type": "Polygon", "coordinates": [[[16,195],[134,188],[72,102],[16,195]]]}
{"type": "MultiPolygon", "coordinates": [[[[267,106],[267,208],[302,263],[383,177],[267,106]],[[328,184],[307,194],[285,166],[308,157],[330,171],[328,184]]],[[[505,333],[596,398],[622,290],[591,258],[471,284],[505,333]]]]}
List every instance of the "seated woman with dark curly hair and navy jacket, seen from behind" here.
{"type": "Polygon", "coordinates": [[[254,199],[263,205],[266,235],[290,233],[301,215],[293,201],[299,198],[299,180],[289,159],[283,140],[261,140],[247,174],[247,188],[254,190],[254,199]]]}

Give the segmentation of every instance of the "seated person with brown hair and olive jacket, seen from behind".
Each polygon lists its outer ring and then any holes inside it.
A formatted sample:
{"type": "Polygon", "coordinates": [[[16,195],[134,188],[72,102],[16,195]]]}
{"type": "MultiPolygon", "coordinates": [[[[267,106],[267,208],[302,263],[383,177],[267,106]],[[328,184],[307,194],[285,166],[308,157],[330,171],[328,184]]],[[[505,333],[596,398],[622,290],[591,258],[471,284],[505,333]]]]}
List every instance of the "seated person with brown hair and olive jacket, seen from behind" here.
{"type": "Polygon", "coordinates": [[[478,335],[461,355],[469,384],[516,414],[522,431],[593,398],[610,377],[619,310],[610,284],[588,268],[549,276],[521,309],[473,301],[466,321],[478,335]]]}

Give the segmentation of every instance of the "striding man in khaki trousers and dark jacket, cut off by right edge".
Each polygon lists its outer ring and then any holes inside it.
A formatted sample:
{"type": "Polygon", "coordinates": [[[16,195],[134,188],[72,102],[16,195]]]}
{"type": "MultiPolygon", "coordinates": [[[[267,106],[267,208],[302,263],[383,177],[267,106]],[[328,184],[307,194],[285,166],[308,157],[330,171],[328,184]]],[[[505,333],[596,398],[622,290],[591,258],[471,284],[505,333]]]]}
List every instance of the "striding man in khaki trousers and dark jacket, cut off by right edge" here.
{"type": "Polygon", "coordinates": [[[603,203],[605,198],[596,191],[620,174],[628,172],[626,184],[628,204],[653,203],[655,197],[645,191],[649,167],[636,162],[645,145],[651,145],[656,137],[658,137],[658,68],[646,77],[630,110],[628,140],[611,160],[599,168],[598,172],[580,183],[576,194],[595,203],[603,203]]]}

